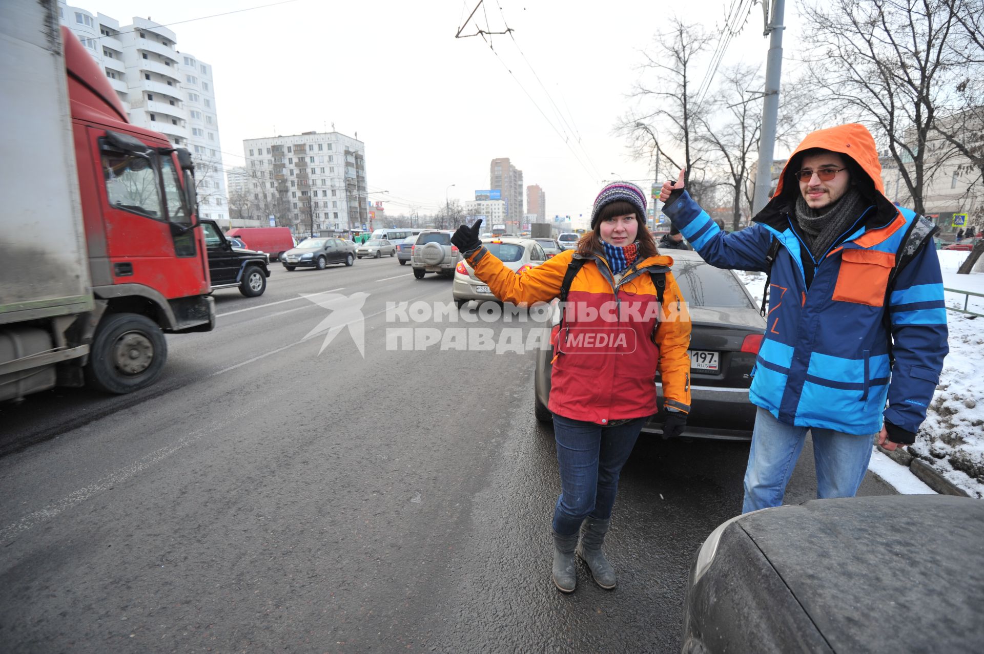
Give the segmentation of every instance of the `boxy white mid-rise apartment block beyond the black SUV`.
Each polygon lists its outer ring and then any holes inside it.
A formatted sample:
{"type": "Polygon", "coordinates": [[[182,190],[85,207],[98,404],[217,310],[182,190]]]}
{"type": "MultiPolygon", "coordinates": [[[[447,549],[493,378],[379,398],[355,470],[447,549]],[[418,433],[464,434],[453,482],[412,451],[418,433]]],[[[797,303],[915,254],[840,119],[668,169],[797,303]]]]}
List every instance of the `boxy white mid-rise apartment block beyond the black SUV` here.
{"type": "MultiPolygon", "coordinates": [[[[365,144],[338,132],[243,141],[245,203],[296,234],[369,229],[365,144]]],[[[375,210],[375,209],[373,209],[375,210]]]]}

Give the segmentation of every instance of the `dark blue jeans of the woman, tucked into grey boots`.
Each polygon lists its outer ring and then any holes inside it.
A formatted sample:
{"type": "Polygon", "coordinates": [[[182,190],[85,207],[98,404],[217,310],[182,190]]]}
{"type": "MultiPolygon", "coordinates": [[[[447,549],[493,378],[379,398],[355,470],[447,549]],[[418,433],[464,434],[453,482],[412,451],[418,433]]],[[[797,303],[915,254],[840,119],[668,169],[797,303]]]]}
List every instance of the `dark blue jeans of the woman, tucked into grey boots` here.
{"type": "Polygon", "coordinates": [[[636,446],[646,418],[605,427],[554,415],[554,439],[560,464],[561,494],[554,508],[553,528],[574,534],[584,518],[612,515],[618,477],[636,446]]]}

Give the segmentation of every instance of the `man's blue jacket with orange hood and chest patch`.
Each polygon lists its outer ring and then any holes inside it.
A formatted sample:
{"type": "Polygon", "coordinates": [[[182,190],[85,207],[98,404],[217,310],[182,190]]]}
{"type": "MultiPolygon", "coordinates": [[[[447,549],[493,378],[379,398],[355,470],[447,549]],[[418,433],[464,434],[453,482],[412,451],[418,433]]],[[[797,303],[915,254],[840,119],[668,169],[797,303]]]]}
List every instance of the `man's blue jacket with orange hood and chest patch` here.
{"type": "Polygon", "coordinates": [[[927,238],[890,285],[896,252],[918,218],[885,198],[875,142],[863,126],[812,133],[786,165],[769,205],[742,231],[722,233],[683,190],[663,211],[718,268],[763,271],[771,241],[782,245],[771,268],[753,403],[787,425],[847,434],[875,434],[884,419],[892,441],[911,443],[948,352],[936,248],[927,238]],[[875,199],[819,259],[789,217],[799,187],[788,166],[812,148],[852,158],[870,178],[859,180],[862,191],[875,199]]]}

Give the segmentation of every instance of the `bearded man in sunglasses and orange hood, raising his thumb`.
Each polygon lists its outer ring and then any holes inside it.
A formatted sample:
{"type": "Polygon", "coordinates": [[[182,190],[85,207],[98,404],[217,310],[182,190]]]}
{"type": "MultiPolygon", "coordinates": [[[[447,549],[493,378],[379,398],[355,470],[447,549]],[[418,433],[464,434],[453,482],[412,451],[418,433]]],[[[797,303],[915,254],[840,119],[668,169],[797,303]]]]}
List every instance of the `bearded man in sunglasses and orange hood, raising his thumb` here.
{"type": "Polygon", "coordinates": [[[663,212],[708,264],[770,271],[745,512],[782,503],[807,430],[817,497],[853,497],[872,443],[911,444],[926,418],[948,352],[937,228],[884,191],[875,141],[857,124],[807,136],[740,232],[724,234],[691,200],[684,171],[663,184],[663,212]]]}

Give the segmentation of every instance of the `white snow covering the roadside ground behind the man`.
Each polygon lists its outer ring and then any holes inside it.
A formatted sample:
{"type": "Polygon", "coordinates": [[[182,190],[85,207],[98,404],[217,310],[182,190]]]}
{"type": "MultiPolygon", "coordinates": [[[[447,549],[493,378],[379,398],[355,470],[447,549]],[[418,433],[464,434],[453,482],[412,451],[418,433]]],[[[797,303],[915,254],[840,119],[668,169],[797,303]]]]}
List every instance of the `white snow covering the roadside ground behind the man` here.
{"type": "MultiPolygon", "coordinates": [[[[937,254],[943,270],[944,287],[984,293],[984,272],[956,274],[956,269],[969,253],[941,250],[937,254]]],[[[761,304],[765,273],[737,272],[756,298],[757,306],[761,304]]],[[[948,307],[962,309],[967,298],[947,292],[946,299],[948,307]]],[[[984,298],[970,296],[967,309],[984,314],[984,298]]],[[[984,318],[948,311],[947,322],[950,354],[944,361],[940,386],[937,386],[926,421],[916,436],[915,444],[909,446],[909,451],[932,464],[970,497],[984,498],[984,365],[980,361],[984,356],[984,318]]],[[[872,457],[871,469],[899,493],[925,492],[912,490],[925,485],[877,449],[872,457]],[[897,469],[890,468],[885,461],[897,469]],[[900,475],[899,471],[904,475],[900,475]],[[909,476],[909,481],[902,481],[907,479],[905,475],[909,476]],[[913,485],[913,482],[918,484],[913,485]]]]}

